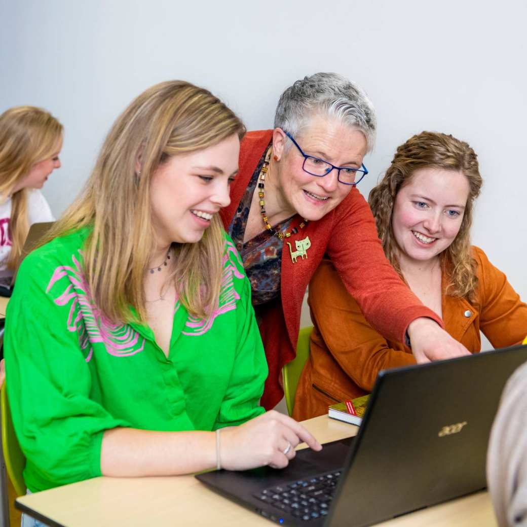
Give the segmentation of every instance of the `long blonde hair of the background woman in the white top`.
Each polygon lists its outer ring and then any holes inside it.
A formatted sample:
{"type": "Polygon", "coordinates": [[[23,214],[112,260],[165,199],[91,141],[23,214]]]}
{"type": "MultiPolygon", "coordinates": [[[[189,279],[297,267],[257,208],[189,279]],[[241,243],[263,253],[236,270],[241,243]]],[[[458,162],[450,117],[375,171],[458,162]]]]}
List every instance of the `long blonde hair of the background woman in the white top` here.
{"type": "Polygon", "coordinates": [[[62,133],[62,124],[51,113],[34,106],[10,108],[0,116],[0,203],[11,197],[8,269],[15,268],[29,230],[28,189],[14,194],[13,189],[33,165],[55,153],[62,133]]]}

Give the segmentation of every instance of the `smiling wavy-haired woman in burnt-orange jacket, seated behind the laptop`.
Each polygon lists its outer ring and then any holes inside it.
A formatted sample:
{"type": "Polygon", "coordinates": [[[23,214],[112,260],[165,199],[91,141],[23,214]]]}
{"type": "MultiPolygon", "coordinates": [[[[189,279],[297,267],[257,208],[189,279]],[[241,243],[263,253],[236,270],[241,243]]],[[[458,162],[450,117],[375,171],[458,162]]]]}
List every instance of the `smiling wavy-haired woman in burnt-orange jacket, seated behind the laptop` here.
{"type": "MultiPolygon", "coordinates": [[[[397,148],[369,195],[388,260],[472,353],[481,349],[480,330],[496,348],[521,342],[527,332],[527,305],[470,244],[481,185],[476,154],[466,142],[422,132],[397,148]]],[[[329,260],[311,279],[309,305],[315,328],[296,392],[296,419],[367,394],[382,369],[415,363],[403,342],[386,340],[366,322],[329,260]]]]}

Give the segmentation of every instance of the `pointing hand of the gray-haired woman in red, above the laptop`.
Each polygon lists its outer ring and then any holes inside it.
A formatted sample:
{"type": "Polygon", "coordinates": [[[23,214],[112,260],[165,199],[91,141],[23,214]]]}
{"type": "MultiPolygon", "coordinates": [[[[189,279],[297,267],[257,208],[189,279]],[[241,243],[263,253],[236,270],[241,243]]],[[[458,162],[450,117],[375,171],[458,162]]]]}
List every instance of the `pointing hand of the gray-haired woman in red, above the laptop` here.
{"type": "Polygon", "coordinates": [[[418,318],[408,325],[412,353],[418,363],[451,359],[470,354],[432,319],[418,318]]]}

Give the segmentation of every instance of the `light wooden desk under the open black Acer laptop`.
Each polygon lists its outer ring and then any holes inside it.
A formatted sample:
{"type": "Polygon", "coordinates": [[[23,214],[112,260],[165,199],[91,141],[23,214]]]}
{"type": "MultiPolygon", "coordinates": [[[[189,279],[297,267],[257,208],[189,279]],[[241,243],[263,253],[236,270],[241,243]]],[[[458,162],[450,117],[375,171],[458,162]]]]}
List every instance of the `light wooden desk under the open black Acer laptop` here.
{"type": "MultiPolygon", "coordinates": [[[[321,442],[353,436],[357,427],[327,416],[303,423],[321,442]]],[[[19,497],[19,509],[35,511],[50,525],[261,525],[269,520],[209,490],[193,476],[111,478],[53,488],[19,497]]],[[[386,527],[496,527],[486,492],[380,523],[386,527]]]]}

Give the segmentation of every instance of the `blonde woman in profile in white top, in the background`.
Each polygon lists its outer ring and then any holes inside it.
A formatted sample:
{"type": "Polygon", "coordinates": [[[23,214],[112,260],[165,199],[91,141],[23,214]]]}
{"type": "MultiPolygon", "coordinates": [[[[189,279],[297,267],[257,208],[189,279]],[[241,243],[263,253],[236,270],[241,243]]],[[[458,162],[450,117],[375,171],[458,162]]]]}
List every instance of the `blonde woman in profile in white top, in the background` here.
{"type": "Polygon", "coordinates": [[[0,116],[0,283],[11,283],[30,226],[54,219],[38,189],[61,166],[62,140],[62,124],[41,108],[0,116]]]}

